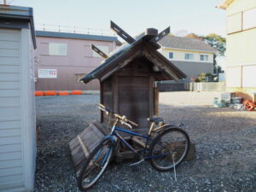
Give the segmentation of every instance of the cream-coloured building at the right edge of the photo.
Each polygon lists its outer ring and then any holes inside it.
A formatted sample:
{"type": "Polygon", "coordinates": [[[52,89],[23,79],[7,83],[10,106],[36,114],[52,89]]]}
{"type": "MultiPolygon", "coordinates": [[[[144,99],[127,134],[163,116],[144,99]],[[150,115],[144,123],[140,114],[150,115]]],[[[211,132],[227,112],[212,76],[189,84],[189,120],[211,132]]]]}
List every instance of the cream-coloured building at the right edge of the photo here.
{"type": "Polygon", "coordinates": [[[256,1],[223,0],[226,10],[226,90],[256,102],[256,1]]]}

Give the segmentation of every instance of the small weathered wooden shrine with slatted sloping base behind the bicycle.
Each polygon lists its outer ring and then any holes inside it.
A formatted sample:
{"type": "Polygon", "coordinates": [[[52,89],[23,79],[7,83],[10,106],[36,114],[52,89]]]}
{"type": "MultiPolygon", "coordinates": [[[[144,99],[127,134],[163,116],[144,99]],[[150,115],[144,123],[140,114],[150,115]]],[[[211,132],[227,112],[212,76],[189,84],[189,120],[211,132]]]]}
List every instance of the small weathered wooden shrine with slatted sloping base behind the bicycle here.
{"type": "MultiPolygon", "coordinates": [[[[158,51],[160,44],[157,42],[170,32],[170,27],[160,33],[154,28],[149,28],[137,38],[131,38],[112,21],[111,28],[126,41],[126,44],[109,56],[92,45],[91,48],[105,60],[101,66],[84,76],[81,82],[86,84],[92,79],[99,79],[101,103],[114,113],[125,115],[136,122],[139,127],[133,131],[146,133],[149,129],[147,118],[158,115],[159,111],[159,96],[155,82],[183,79],[186,75],[158,51]]],[[[109,121],[104,113],[101,115],[101,121],[111,125],[111,120],[109,121]]],[[[77,174],[84,156],[86,158],[93,146],[96,146],[105,135],[100,124],[93,123],[89,128],[70,142],[77,174]]]]}

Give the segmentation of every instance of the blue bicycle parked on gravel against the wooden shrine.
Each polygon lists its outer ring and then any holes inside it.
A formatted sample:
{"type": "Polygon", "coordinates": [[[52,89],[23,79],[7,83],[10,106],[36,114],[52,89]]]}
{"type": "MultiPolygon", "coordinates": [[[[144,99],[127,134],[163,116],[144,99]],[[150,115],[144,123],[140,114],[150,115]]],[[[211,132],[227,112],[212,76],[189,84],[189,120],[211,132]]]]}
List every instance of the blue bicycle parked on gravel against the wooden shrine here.
{"type": "Polygon", "coordinates": [[[119,147],[119,143],[124,143],[139,159],[138,162],[131,164],[131,166],[137,165],[144,160],[150,160],[151,165],[158,171],[167,172],[173,169],[176,178],[176,167],[183,162],[189,152],[189,136],[186,131],[180,128],[182,125],[166,125],[161,118],[148,118],[151,125],[148,134],[143,135],[117,126],[120,123],[132,129],[131,125],[137,126],[135,122],[118,113],[110,112],[101,103],[98,108],[109,117],[113,116],[114,123],[110,134],[102,139],[102,142],[94,148],[88,159],[84,161],[79,173],[79,189],[90,189],[102,177],[113,156],[113,152],[119,147]],[[146,140],[144,147],[137,151],[117,131],[144,138],[146,140]],[[157,136],[152,138],[152,133],[156,133],[157,136]]]}

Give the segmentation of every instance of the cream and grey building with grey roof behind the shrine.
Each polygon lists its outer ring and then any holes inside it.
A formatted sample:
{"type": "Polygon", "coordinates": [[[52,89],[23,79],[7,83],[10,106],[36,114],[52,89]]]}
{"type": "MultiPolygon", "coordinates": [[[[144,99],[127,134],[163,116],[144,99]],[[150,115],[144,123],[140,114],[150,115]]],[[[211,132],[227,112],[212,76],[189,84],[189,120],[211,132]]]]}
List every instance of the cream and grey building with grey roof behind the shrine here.
{"type": "Polygon", "coordinates": [[[188,76],[185,81],[190,81],[201,73],[213,73],[213,55],[216,54],[216,49],[206,42],[168,35],[159,44],[160,53],[188,76]]]}

